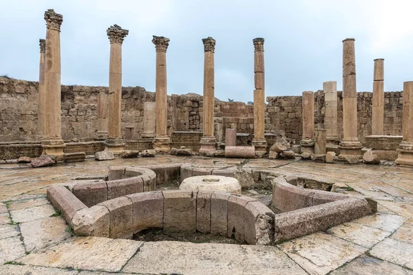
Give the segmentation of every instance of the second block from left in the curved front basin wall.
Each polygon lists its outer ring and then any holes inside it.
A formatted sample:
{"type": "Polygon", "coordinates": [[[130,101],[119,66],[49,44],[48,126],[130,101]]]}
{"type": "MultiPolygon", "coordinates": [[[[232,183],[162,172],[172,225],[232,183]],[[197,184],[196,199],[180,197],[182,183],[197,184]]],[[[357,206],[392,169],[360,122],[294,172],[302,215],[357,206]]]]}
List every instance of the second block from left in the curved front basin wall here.
{"type": "Polygon", "coordinates": [[[98,206],[105,206],[109,210],[111,239],[132,239],[133,211],[130,199],[118,197],[103,201],[98,206]]]}

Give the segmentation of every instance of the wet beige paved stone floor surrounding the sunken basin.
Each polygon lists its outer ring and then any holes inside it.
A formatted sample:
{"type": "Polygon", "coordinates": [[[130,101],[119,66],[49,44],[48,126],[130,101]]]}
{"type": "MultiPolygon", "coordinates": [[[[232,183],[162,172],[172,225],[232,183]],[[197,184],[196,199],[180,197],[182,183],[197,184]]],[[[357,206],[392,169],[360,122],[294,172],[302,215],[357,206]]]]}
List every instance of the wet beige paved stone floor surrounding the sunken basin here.
{"type": "Polygon", "coordinates": [[[412,168],[277,159],[120,159],[31,168],[0,166],[0,274],[413,274],[412,168]],[[379,212],[277,246],[142,242],[76,237],[45,198],[46,188],[103,177],[115,165],[237,164],[349,186],[379,212]]]}

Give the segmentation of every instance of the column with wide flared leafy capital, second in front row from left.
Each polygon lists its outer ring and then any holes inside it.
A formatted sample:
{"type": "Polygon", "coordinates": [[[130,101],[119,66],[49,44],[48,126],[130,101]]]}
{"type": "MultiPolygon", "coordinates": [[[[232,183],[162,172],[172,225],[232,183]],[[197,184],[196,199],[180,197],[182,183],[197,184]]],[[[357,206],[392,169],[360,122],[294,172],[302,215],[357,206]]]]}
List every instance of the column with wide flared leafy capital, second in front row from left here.
{"type": "Polygon", "coordinates": [[[122,107],[122,43],[128,30],[113,25],[107,29],[110,41],[109,61],[109,125],[105,150],[119,154],[125,148],[120,131],[122,107]]]}

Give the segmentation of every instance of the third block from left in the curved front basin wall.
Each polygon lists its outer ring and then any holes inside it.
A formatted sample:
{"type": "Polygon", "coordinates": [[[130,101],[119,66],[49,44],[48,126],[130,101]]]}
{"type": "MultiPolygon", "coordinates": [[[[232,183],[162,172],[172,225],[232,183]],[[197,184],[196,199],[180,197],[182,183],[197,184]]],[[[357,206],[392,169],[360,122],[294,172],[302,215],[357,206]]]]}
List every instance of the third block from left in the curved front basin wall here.
{"type": "Polygon", "coordinates": [[[127,195],[133,206],[133,232],[147,228],[163,228],[164,198],[162,192],[144,192],[127,195]]]}

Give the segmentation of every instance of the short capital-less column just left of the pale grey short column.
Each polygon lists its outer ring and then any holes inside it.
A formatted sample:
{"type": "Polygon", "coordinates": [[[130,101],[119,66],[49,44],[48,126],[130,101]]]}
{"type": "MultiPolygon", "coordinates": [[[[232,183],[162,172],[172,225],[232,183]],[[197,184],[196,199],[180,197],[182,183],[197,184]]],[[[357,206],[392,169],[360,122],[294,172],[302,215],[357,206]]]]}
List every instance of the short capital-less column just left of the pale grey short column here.
{"type": "Polygon", "coordinates": [[[314,153],[314,92],[303,91],[301,153],[314,153]]]}

